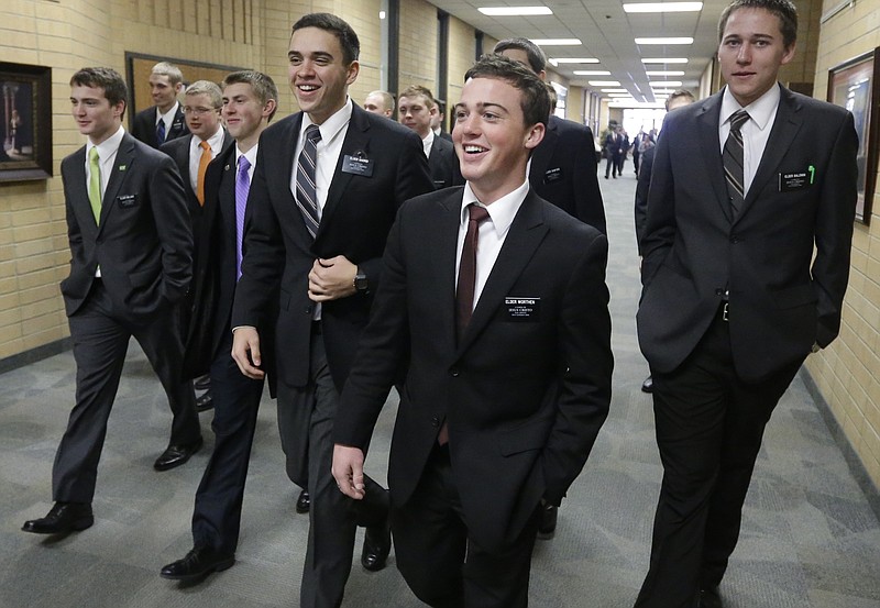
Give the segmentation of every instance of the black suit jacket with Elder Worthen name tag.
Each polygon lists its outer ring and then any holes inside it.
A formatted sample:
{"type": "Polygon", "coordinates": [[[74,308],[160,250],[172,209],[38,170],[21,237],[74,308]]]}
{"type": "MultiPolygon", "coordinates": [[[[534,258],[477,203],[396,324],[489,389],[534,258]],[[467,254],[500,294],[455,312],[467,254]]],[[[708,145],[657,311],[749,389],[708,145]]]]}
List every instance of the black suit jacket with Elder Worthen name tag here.
{"type": "Polygon", "coordinates": [[[415,491],[446,419],[469,535],[495,551],[541,498],[560,504],[607,416],[607,240],[529,192],[457,344],[461,200],[462,188],[452,188],[400,210],[333,441],[366,449],[408,358],[392,500],[405,505],[415,491]]]}

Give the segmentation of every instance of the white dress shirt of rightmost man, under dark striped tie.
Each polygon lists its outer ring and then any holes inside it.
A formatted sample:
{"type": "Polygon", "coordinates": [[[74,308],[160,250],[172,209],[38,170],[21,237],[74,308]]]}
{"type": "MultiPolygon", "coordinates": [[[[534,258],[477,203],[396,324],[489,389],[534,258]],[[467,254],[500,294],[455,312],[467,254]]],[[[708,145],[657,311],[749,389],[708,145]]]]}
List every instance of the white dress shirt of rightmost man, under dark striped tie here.
{"type": "Polygon", "coordinates": [[[758,173],[758,165],[761,164],[763,150],[770,139],[770,131],[777,119],[779,109],[779,85],[771,87],[769,91],[743,108],[730,93],[729,87],[724,88],[722,96],[722,112],[718,124],[718,139],[721,141],[722,154],[727,135],[730,133],[730,117],[739,109],[749,113],[749,120],[739,130],[743,133],[743,186],[744,194],[748,194],[755,174],[758,173]]]}

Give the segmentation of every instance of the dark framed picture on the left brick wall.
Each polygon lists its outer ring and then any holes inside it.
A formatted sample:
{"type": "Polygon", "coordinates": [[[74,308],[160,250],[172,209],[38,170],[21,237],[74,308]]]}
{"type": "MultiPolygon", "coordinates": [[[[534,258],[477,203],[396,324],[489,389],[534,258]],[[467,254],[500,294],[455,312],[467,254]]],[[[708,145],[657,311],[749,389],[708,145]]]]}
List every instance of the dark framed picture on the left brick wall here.
{"type": "Polygon", "coordinates": [[[52,68],[0,62],[0,181],[52,177],[52,68]]]}

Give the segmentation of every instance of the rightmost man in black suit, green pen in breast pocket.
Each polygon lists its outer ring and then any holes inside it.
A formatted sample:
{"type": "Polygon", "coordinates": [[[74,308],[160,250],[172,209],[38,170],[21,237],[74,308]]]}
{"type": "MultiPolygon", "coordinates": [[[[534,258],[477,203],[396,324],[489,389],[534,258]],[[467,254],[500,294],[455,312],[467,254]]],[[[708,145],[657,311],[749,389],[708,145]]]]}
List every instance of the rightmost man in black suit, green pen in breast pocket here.
{"type": "Polygon", "coordinates": [[[858,139],[848,111],[777,81],[796,34],[789,0],[732,3],[726,87],[658,140],[637,322],[664,473],[639,607],[722,606],[765,425],[839,330],[858,139]]]}

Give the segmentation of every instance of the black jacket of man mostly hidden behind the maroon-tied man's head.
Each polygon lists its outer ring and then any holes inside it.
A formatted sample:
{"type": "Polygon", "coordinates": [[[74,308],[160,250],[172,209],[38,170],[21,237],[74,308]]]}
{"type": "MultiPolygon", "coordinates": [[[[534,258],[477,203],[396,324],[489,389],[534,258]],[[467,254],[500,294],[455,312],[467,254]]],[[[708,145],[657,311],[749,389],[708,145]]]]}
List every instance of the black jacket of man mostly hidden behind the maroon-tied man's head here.
{"type": "Polygon", "coordinates": [[[588,126],[550,117],[543,140],[531,155],[529,185],[542,199],[605,233],[596,147],[588,126]]]}

